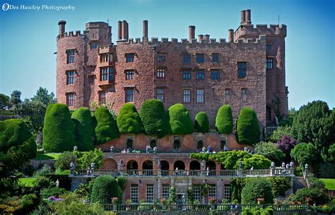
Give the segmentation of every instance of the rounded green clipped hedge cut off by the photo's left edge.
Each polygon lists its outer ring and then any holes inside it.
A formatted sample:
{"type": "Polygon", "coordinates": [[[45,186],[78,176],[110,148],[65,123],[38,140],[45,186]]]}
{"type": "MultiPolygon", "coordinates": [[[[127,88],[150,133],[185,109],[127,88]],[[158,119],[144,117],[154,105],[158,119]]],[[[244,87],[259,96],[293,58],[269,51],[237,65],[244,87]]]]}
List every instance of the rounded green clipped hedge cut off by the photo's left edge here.
{"type": "Polygon", "coordinates": [[[0,121],[0,151],[8,151],[12,146],[23,144],[31,134],[23,120],[0,121]]]}

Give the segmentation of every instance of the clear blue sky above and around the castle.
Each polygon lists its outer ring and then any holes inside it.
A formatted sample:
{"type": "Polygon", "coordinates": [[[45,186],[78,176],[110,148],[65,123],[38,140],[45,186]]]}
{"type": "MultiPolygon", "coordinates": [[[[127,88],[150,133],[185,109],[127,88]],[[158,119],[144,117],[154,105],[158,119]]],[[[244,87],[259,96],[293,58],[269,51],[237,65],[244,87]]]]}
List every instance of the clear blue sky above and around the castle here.
{"type": "Polygon", "coordinates": [[[278,24],[279,15],[279,22],[288,26],[289,108],[312,100],[335,108],[333,0],[0,0],[0,6],[0,93],[6,95],[18,90],[22,99],[31,98],[40,86],[56,92],[59,20],[66,21],[66,32],[84,30],[90,21],[109,21],[112,42],[117,40],[119,20],[129,23],[130,38],[141,37],[142,21],[148,20],[149,38],[180,40],[188,37],[188,26],[195,25],[196,35],[218,40],[228,37],[229,28],[238,28],[240,11],[250,8],[254,25],[278,24]],[[57,11],[52,6],[74,8],[57,11]]]}

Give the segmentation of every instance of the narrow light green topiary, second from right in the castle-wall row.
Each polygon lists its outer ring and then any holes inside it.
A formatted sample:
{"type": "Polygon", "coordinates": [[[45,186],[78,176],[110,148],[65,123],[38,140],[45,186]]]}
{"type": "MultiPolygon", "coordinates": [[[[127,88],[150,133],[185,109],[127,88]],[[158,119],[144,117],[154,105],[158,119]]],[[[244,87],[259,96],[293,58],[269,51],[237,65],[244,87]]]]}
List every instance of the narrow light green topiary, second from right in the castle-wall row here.
{"type": "Polygon", "coordinates": [[[233,133],[233,115],[230,105],[222,105],[221,108],[218,109],[215,121],[216,130],[220,134],[233,133]]]}

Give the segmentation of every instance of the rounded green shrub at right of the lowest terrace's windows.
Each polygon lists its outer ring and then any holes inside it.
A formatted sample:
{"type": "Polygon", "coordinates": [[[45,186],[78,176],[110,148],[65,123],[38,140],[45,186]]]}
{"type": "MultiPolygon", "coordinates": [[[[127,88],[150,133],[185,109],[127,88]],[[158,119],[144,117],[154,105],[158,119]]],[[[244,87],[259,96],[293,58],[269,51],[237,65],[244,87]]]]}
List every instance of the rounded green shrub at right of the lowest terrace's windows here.
{"type": "Polygon", "coordinates": [[[263,198],[264,204],[274,203],[274,194],[269,180],[265,178],[250,178],[242,189],[242,204],[257,204],[257,199],[263,198]]]}

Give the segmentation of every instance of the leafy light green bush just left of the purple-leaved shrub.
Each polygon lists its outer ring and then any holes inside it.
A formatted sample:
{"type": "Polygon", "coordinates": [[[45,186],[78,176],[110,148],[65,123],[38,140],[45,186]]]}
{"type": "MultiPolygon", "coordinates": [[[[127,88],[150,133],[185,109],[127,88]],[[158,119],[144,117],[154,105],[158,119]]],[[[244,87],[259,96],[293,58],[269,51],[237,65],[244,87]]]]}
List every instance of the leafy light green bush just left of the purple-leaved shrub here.
{"type": "Polygon", "coordinates": [[[256,154],[265,156],[270,161],[274,161],[277,165],[281,165],[285,154],[281,149],[271,142],[259,142],[254,146],[254,152],[256,154]]]}

